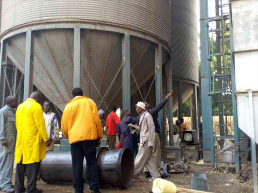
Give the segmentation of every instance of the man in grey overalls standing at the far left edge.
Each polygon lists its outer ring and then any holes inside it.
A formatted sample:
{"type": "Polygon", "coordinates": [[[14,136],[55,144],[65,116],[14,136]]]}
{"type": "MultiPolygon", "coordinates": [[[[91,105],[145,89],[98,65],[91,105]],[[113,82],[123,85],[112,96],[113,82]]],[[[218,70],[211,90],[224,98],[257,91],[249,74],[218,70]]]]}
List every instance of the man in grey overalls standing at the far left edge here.
{"type": "Polygon", "coordinates": [[[17,99],[13,96],[8,96],[6,104],[0,110],[0,187],[4,192],[15,192],[11,179],[17,136],[15,127],[17,99]]]}

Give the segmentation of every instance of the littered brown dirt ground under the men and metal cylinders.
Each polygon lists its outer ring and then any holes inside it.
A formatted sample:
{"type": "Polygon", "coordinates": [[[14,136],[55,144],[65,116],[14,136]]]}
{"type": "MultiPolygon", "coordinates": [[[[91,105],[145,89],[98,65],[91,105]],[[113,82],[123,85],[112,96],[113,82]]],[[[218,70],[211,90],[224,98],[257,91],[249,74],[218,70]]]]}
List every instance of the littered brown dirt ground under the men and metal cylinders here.
{"type": "MultiPolygon", "coordinates": [[[[208,172],[211,170],[211,165],[207,163],[195,163],[189,164],[189,174],[170,174],[167,180],[172,181],[176,186],[183,188],[191,187],[191,174],[208,172]]],[[[240,183],[235,179],[235,174],[214,174],[207,173],[208,186],[210,192],[253,192],[252,177],[249,175],[249,180],[244,183],[240,183]]],[[[13,175],[13,181],[15,179],[15,170],[13,175]]],[[[45,183],[42,180],[37,181],[37,188],[43,189],[47,193],[62,193],[62,192],[74,192],[72,183],[45,183]]],[[[152,188],[152,183],[148,182],[144,178],[144,174],[141,176],[141,182],[134,182],[133,186],[128,189],[120,189],[112,186],[101,187],[101,192],[135,192],[135,193],[148,193],[152,188]]],[[[1,192],[1,191],[0,191],[1,192]]],[[[85,189],[85,193],[90,190],[85,189]]]]}

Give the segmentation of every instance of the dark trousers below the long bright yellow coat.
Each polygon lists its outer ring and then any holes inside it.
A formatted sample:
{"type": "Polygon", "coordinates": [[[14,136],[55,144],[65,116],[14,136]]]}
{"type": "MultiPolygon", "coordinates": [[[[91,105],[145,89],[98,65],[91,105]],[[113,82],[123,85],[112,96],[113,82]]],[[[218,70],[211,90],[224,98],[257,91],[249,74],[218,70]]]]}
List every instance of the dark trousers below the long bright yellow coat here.
{"type": "Polygon", "coordinates": [[[37,176],[40,162],[23,164],[17,163],[15,175],[15,192],[24,192],[24,174],[27,172],[27,191],[34,193],[37,189],[37,176]]]}

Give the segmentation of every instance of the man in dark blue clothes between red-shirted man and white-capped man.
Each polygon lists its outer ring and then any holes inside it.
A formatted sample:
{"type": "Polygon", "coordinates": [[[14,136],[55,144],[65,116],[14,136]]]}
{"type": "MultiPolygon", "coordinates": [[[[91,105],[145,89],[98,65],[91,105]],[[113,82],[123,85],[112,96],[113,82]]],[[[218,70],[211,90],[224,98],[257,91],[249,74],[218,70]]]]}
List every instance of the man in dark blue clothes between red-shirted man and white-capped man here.
{"type": "Polygon", "coordinates": [[[128,124],[136,124],[137,119],[130,116],[128,108],[123,109],[120,113],[122,120],[117,125],[116,132],[121,134],[121,141],[123,148],[130,148],[132,153],[135,152],[136,133],[132,134],[128,124]]]}

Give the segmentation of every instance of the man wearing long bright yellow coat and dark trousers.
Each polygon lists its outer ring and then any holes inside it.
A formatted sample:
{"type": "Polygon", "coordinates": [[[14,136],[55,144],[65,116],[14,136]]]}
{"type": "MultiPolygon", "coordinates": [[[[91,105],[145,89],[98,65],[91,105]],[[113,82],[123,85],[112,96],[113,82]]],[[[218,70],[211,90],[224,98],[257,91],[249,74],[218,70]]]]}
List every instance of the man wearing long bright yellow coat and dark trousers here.
{"type": "Polygon", "coordinates": [[[18,106],[16,112],[17,142],[15,149],[16,176],[15,192],[39,193],[37,176],[39,162],[45,158],[46,146],[50,145],[40,105],[42,96],[33,92],[30,98],[18,106]],[[24,186],[24,173],[27,172],[27,190],[24,186]]]}

